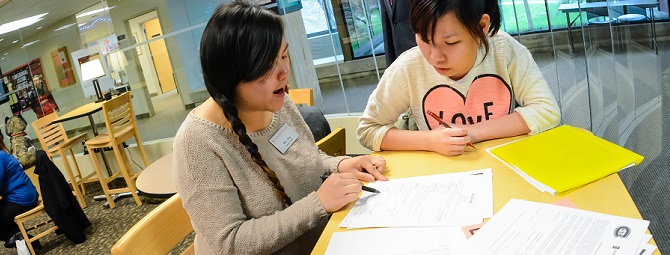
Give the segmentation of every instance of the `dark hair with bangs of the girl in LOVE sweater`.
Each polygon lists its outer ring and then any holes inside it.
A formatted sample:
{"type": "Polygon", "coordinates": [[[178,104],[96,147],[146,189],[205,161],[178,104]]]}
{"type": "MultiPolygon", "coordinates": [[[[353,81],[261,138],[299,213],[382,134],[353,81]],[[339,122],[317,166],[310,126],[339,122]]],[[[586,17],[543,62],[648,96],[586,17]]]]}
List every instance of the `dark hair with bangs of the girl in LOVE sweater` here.
{"type": "Polygon", "coordinates": [[[495,35],[500,29],[500,7],[497,0],[413,0],[410,1],[410,25],[421,40],[434,42],[437,22],[447,13],[453,12],[472,38],[483,44],[489,53],[487,34],[479,26],[482,15],[491,17],[488,35],[495,35]]]}

